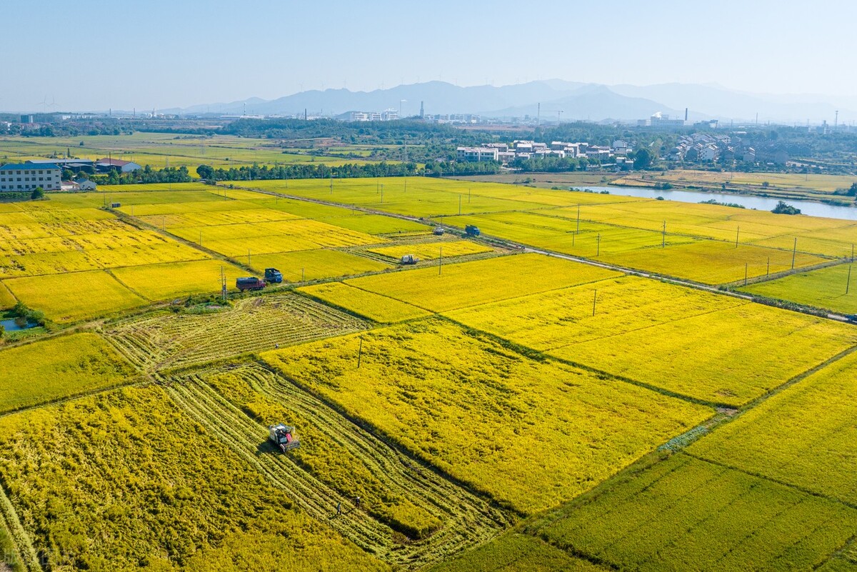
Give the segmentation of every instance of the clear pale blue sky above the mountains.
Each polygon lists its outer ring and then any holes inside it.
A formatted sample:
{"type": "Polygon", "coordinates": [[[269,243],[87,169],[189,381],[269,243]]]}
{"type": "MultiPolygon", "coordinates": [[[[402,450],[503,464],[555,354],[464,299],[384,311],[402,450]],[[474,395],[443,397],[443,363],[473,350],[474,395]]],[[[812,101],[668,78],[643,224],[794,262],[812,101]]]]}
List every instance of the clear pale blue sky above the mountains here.
{"type": "Polygon", "coordinates": [[[4,0],[0,110],[554,78],[854,98],[855,16],[854,0],[4,0]]]}

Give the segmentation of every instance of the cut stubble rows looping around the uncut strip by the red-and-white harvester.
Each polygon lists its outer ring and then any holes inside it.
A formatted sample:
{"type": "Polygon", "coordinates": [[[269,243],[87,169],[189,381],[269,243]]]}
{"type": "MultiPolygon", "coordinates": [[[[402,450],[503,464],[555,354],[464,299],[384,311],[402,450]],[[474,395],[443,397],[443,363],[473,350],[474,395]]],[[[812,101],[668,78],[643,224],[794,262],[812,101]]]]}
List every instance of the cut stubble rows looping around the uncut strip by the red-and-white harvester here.
{"type": "MultiPolygon", "coordinates": [[[[246,405],[242,408],[244,411],[237,408],[206,384],[203,379],[209,373],[173,378],[171,395],[231,449],[254,464],[267,480],[287,491],[310,515],[319,521],[328,521],[365,550],[401,565],[434,562],[490,538],[505,521],[500,513],[489,509],[485,501],[390,449],[291,384],[257,366],[240,370],[230,368],[229,372],[249,380],[273,402],[282,403],[309,424],[307,435],[315,433],[315,441],[313,437],[307,438],[300,426],[297,428],[298,436],[303,439],[303,449],[312,451],[314,447],[333,446],[338,450],[335,460],[341,462],[340,457],[345,457],[357,463],[354,474],[345,474],[343,482],[333,483],[314,474],[320,467],[310,465],[308,468],[293,459],[300,450],[284,456],[269,449],[260,455],[260,445],[267,439],[266,427],[249,418],[246,405]],[[423,507],[442,518],[440,530],[427,539],[400,544],[395,540],[393,529],[369,514],[372,508],[367,502],[372,502],[371,496],[363,497],[360,509],[351,509],[354,497],[343,489],[347,490],[353,485],[350,481],[359,480],[366,471],[372,479],[381,481],[385,498],[402,498],[402,502],[411,506],[411,511],[423,507]],[[334,518],[337,503],[342,503],[346,509],[334,518]]],[[[319,449],[316,454],[321,455],[322,451],[319,449]]],[[[311,461],[313,455],[309,453],[305,462],[311,461]]]]}

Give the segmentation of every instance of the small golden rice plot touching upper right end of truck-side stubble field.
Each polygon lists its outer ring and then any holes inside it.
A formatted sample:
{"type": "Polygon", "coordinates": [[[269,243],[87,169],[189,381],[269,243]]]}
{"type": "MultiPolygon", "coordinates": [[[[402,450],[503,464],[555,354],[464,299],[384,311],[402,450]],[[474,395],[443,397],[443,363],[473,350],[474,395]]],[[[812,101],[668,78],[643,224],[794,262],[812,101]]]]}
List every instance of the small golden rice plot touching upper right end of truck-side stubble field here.
{"type": "Polygon", "coordinates": [[[393,324],[406,319],[425,318],[429,315],[423,308],[341,282],[316,284],[298,291],[379,324],[393,324]]]}

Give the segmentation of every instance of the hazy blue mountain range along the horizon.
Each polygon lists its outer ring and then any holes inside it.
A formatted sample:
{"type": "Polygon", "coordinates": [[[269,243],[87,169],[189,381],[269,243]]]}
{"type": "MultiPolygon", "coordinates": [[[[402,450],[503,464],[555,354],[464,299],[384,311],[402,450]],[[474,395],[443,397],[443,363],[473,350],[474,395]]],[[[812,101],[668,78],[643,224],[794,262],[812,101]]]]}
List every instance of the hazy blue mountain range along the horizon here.
{"type": "Polygon", "coordinates": [[[454,86],[444,81],[351,92],[345,88],[310,90],[273,100],[249,98],[230,103],[200,104],[161,110],[165,113],[340,116],[351,111],[402,110],[403,116],[472,113],[484,117],[535,117],[545,121],[645,119],[656,111],[671,116],[724,121],[820,123],[857,121],[857,97],[771,95],[728,90],[721,86],[668,83],[654,86],[584,84],[539,80],[509,86],[454,86]]]}

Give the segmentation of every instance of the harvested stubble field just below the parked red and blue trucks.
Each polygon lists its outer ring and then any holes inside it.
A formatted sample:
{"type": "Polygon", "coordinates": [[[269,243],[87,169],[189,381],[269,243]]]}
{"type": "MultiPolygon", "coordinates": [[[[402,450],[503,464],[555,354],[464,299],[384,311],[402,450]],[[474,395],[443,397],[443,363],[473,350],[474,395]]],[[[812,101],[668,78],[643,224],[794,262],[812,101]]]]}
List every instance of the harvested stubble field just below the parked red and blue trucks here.
{"type": "Polygon", "coordinates": [[[192,366],[262,349],[361,331],[365,323],[291,293],[256,296],[216,313],[159,313],[112,326],[107,335],[147,370],[192,366]]]}

